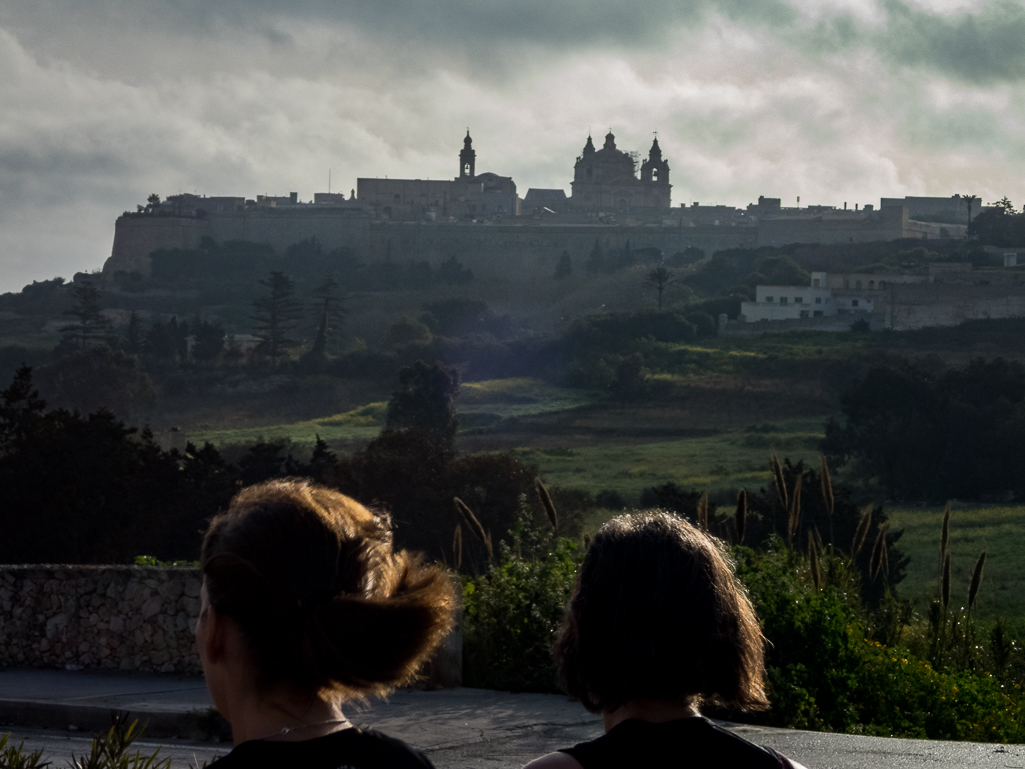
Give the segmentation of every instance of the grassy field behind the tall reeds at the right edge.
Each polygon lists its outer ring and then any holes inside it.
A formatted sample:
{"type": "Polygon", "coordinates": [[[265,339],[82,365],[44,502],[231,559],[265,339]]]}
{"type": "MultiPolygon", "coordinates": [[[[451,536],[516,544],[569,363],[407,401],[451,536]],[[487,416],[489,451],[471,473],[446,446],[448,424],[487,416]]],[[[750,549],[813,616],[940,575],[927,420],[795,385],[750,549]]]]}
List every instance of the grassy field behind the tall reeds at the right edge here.
{"type": "MultiPolygon", "coordinates": [[[[943,508],[890,508],[891,525],[902,528],[900,549],[911,559],[900,584],[904,598],[925,611],[936,596],[943,508]]],[[[972,569],[982,551],[986,567],[979,593],[981,616],[1025,617],[1025,505],[955,504],[950,516],[950,601],[968,601],[972,569]]]]}

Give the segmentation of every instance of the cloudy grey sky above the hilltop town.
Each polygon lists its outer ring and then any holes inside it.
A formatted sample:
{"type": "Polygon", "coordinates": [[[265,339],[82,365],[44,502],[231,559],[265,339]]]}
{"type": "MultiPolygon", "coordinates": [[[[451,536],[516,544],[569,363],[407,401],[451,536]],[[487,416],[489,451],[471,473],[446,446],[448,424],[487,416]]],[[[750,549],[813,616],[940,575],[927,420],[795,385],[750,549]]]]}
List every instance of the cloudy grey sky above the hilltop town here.
{"type": "Polygon", "coordinates": [[[150,193],[477,170],[569,192],[588,132],[673,205],[1025,203],[1025,2],[3,0],[0,291],[110,255],[150,193]]]}

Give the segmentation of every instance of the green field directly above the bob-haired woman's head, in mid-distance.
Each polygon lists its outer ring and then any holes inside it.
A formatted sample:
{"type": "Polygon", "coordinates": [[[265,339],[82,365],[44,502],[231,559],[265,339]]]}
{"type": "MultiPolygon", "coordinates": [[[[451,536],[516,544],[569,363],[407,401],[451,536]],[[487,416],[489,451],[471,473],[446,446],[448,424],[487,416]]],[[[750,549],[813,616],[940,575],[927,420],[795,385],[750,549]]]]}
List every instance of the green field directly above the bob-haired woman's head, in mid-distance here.
{"type": "Polygon", "coordinates": [[[728,492],[758,488],[769,480],[772,448],[791,461],[818,461],[821,419],[794,419],[760,424],[704,438],[657,443],[616,444],[576,448],[521,448],[521,461],[538,464],[556,486],[598,493],[614,489],[637,504],[642,490],[667,481],[685,488],[728,492]]]}

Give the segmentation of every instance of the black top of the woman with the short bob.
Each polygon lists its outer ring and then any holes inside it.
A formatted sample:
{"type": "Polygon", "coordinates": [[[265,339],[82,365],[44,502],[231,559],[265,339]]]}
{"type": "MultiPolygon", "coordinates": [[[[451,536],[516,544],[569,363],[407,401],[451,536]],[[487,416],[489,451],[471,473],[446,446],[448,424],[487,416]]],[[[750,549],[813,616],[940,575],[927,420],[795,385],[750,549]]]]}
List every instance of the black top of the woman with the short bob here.
{"type": "Polygon", "coordinates": [[[775,751],[748,742],[705,718],[680,719],[664,724],[630,719],[598,739],[560,753],[572,756],[583,769],[627,766],[781,769],[792,766],[775,751]]]}

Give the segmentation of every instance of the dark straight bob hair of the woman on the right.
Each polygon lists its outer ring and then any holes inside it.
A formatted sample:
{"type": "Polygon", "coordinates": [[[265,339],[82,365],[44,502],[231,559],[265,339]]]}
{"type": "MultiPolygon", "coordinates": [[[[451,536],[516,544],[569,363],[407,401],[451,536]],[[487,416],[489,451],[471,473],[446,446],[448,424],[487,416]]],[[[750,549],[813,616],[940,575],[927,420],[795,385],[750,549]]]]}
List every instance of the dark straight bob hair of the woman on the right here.
{"type": "Polygon", "coordinates": [[[706,699],[764,710],[764,640],[716,540],[662,512],[613,518],[594,536],[552,648],[587,710],[706,699]]]}

